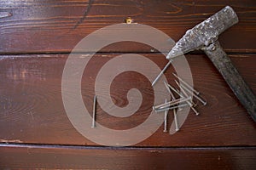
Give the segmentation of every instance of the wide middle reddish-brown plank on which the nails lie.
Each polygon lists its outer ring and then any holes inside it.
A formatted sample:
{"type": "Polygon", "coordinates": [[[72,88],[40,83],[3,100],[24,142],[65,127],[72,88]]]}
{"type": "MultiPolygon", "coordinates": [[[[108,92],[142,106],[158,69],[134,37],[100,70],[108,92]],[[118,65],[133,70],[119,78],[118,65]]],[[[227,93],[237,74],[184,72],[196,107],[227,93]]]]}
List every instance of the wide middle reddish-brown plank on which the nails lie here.
{"type": "MultiPolygon", "coordinates": [[[[161,54],[143,54],[162,68],[166,59],[161,54]]],[[[83,54],[86,58],[86,54],[83,54]]],[[[84,105],[91,111],[98,71],[116,54],[97,54],[84,70],[82,94],[84,105]]],[[[255,54],[232,54],[241,76],[256,91],[255,54]]],[[[230,146],[256,144],[255,123],[239,104],[235,95],[205,55],[187,56],[195,88],[201,91],[208,105],[196,109],[181,127],[170,135],[160,127],[137,146],[230,146]]],[[[0,142],[27,144],[95,145],[75,130],[61,99],[61,76],[67,55],[4,55],[0,59],[0,142]]],[[[134,61],[134,64],[137,61],[134,61]]],[[[125,65],[125,64],[124,64],[125,65]]],[[[121,66],[121,65],[120,65],[121,66]]],[[[166,71],[174,85],[173,68],[166,71]]],[[[153,74],[154,72],[150,73],[153,74]]],[[[154,73],[156,74],[156,73],[154,73]]],[[[129,129],[144,122],[152,111],[153,89],[146,77],[124,72],[114,79],[111,95],[116,105],[125,106],[127,91],[137,88],[143,103],[136,114],[120,118],[108,115],[98,106],[97,122],[113,129],[129,129]]],[[[170,114],[169,122],[173,116],[170,114]]],[[[84,125],[90,126],[90,125],[84,125]]]]}

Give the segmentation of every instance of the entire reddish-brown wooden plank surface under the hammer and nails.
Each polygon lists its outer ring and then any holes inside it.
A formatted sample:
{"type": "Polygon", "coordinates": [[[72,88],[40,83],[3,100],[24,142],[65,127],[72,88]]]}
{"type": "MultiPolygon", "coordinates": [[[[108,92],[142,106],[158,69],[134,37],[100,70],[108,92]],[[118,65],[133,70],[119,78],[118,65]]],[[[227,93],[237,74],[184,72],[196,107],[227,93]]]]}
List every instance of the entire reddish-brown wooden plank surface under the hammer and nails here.
{"type": "MultiPolygon", "coordinates": [[[[246,1],[0,1],[0,167],[82,169],[255,169],[256,124],[205,54],[186,55],[207,106],[190,111],[178,133],[152,136],[131,147],[104,147],[84,138],[67,118],[61,99],[61,76],[68,54],[92,31],[134,22],[153,26],[177,41],[184,32],[225,5],[240,22],[225,31],[220,43],[256,93],[256,3],[246,1]],[[132,163],[131,163],[132,162],[132,163]]],[[[120,42],[102,48],[84,70],[84,105],[92,107],[101,66],[126,52],[141,54],[163,68],[166,59],[152,47],[120,42]]],[[[84,51],[87,56],[88,51],[84,51]]],[[[136,62],[136,61],[134,61],[136,62]]],[[[167,81],[175,86],[173,68],[167,81]]],[[[146,77],[125,72],[114,79],[111,95],[125,106],[127,91],[137,88],[143,103],[126,118],[97,108],[97,122],[113,129],[141,124],[152,111],[154,95],[146,77]],[[122,88],[120,88],[122,87],[122,88]]],[[[173,121],[170,114],[169,122],[173,121]]],[[[90,126],[90,125],[84,125],[90,126]]]]}

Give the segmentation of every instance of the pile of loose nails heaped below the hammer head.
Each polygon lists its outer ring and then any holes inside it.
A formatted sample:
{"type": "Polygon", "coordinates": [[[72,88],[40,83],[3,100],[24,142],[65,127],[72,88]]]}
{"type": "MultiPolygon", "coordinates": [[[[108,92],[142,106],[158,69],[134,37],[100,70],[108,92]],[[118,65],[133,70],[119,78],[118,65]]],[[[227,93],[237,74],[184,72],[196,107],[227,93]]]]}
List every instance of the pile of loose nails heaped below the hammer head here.
{"type": "Polygon", "coordinates": [[[177,88],[172,87],[170,84],[165,83],[166,89],[171,95],[172,99],[171,101],[165,101],[165,103],[161,105],[154,105],[153,110],[155,112],[165,111],[165,128],[164,132],[167,132],[166,125],[167,125],[167,114],[168,111],[172,110],[174,114],[174,122],[176,125],[176,131],[179,130],[178,121],[177,121],[177,109],[181,110],[183,107],[190,107],[192,111],[195,112],[195,115],[199,115],[199,112],[195,110],[195,106],[197,105],[197,102],[193,101],[193,99],[196,99],[197,101],[201,102],[202,105],[207,105],[207,101],[201,98],[200,92],[195,90],[192,86],[189,85],[188,82],[185,82],[181,77],[177,77],[175,73],[172,73],[174,77],[177,78],[177,80],[174,80],[177,84],[177,88]],[[175,97],[175,95],[172,93],[174,92],[177,94],[178,98],[175,97]]]}

